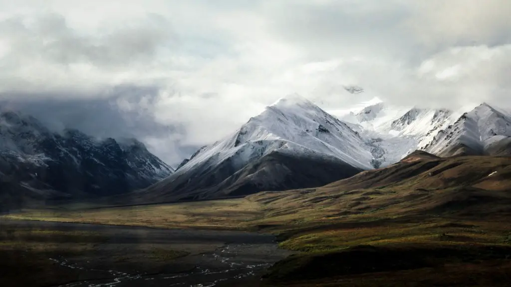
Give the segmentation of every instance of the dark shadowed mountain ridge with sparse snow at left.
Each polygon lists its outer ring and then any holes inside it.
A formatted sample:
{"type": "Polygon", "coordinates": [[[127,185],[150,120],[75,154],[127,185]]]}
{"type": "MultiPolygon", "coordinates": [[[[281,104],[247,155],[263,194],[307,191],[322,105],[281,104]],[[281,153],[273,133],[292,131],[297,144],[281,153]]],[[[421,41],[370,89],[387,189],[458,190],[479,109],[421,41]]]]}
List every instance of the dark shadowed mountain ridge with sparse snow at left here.
{"type": "Polygon", "coordinates": [[[0,197],[119,194],[147,187],[172,172],[135,139],[99,140],[77,130],[55,133],[32,116],[0,113],[0,181],[2,191],[11,190],[0,197]]]}

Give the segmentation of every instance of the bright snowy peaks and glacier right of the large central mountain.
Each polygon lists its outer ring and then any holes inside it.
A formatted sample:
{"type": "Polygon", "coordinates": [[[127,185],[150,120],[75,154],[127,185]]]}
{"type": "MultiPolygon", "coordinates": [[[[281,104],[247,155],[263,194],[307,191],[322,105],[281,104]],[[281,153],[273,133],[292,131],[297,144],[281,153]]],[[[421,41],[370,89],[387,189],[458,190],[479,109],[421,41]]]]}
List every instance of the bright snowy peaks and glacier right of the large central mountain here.
{"type": "Polygon", "coordinates": [[[371,153],[381,167],[415,150],[439,156],[511,152],[511,115],[488,104],[462,114],[380,102],[341,119],[372,146],[371,153]]]}

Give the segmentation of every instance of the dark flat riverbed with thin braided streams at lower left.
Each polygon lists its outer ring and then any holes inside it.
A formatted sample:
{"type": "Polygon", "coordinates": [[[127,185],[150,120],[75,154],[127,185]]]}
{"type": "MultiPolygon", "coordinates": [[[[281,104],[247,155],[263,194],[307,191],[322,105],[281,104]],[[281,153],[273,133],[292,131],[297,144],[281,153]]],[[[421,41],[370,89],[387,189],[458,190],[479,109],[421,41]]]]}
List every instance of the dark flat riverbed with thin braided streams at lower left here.
{"type": "Polygon", "coordinates": [[[258,286],[274,236],[2,220],[2,286],[258,286]]]}

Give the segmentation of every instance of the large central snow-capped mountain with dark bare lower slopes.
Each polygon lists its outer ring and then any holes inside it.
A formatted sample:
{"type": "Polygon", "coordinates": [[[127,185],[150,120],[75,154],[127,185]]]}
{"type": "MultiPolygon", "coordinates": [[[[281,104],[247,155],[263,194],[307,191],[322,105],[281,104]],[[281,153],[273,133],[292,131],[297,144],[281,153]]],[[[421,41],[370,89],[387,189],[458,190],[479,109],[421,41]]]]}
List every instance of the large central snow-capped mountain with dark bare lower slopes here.
{"type": "Polygon", "coordinates": [[[288,95],[144,193],[198,199],[318,186],[373,168],[365,141],[309,100],[288,95]]]}

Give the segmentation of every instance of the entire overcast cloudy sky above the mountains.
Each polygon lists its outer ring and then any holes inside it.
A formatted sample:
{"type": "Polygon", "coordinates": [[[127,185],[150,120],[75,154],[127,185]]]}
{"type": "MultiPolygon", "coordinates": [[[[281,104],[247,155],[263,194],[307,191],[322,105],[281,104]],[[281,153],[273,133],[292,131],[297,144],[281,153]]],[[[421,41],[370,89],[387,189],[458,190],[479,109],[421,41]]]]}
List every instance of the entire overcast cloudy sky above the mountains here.
{"type": "Polygon", "coordinates": [[[175,165],[294,92],[327,110],[511,106],[510,13],[508,0],[0,0],[0,100],[55,128],[139,137],[175,165]]]}

